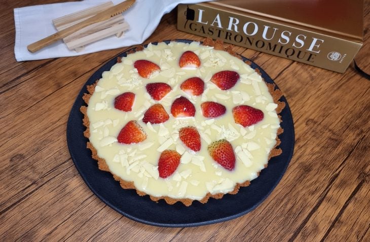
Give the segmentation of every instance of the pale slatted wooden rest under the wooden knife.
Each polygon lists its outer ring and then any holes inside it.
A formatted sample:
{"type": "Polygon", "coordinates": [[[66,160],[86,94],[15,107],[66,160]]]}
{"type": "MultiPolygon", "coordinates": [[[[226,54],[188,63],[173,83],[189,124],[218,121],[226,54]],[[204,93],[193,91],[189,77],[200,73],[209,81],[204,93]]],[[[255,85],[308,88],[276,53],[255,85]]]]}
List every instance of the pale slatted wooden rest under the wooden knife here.
{"type": "MultiPolygon", "coordinates": [[[[55,28],[60,31],[66,27],[79,23],[97,13],[114,6],[112,2],[91,7],[76,13],[68,14],[60,18],[53,19],[55,28]]],[[[129,29],[129,25],[125,22],[122,14],[114,16],[108,20],[99,23],[91,24],[85,28],[76,31],[63,39],[69,50],[80,52],[84,50],[84,46],[101,40],[103,38],[115,34],[118,38],[122,37],[124,32],[129,29]]]]}

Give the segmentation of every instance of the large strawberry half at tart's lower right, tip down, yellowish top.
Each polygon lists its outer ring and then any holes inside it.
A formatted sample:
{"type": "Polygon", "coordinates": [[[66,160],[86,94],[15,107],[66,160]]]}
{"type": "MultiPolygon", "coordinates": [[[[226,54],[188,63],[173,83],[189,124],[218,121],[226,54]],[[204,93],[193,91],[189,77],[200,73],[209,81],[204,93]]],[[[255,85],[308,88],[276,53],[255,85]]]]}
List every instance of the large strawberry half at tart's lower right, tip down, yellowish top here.
{"type": "Polygon", "coordinates": [[[227,140],[215,141],[208,146],[208,153],[225,169],[233,170],[235,167],[234,149],[227,140]]]}

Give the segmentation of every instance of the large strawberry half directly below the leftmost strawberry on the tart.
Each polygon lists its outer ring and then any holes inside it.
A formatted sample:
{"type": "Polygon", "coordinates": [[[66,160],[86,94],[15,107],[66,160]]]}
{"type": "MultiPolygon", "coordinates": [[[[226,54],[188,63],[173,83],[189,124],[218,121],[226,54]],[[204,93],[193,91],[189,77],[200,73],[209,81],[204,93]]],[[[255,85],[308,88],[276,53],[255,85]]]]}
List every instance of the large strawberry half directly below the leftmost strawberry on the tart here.
{"type": "Polygon", "coordinates": [[[117,140],[119,143],[132,144],[140,143],[146,139],[146,133],[137,123],[137,121],[129,121],[118,134],[117,140]]]}

